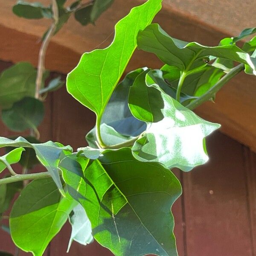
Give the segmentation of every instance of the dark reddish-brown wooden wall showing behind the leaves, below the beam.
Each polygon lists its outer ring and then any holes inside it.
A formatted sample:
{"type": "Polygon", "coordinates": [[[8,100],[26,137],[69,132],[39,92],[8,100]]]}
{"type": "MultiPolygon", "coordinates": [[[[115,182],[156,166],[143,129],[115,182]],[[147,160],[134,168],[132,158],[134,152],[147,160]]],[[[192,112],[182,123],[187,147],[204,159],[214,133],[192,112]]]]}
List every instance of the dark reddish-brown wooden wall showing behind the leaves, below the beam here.
{"type": "MultiPolygon", "coordinates": [[[[0,62],[0,70],[10,64],[0,62]]],[[[52,76],[55,76],[54,74],[52,76]]],[[[42,141],[86,145],[84,136],[95,116],[65,90],[49,94],[46,118],[39,130],[42,141]]],[[[13,135],[0,124],[0,136],[13,135]]],[[[183,195],[175,202],[175,235],[179,256],[256,255],[256,154],[220,132],[207,139],[209,162],[184,173],[175,170],[183,195]]],[[[37,170],[38,171],[38,170],[37,170]]],[[[65,256],[70,237],[66,224],[44,256],[65,256]]],[[[14,253],[10,236],[0,230],[0,250],[14,253]]],[[[31,255],[20,253],[20,256],[31,255]]],[[[111,256],[96,242],[84,247],[74,242],[70,256],[111,256]]]]}

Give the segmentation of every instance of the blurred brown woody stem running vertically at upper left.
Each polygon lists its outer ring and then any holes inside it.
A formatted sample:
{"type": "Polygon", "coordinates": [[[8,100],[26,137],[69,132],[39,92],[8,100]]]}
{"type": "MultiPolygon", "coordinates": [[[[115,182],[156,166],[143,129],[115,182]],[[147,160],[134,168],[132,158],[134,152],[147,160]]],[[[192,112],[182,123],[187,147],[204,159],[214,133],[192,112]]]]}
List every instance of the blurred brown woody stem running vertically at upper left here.
{"type": "Polygon", "coordinates": [[[41,45],[39,56],[38,56],[38,72],[37,72],[36,81],[35,81],[35,98],[36,99],[40,98],[39,91],[41,90],[42,79],[43,79],[44,70],[45,70],[44,62],[45,62],[46,50],[49,45],[49,41],[54,35],[55,29],[58,23],[58,5],[56,3],[56,0],[52,0],[52,13],[53,13],[53,22],[47,32],[47,35],[44,38],[44,41],[41,45]]]}

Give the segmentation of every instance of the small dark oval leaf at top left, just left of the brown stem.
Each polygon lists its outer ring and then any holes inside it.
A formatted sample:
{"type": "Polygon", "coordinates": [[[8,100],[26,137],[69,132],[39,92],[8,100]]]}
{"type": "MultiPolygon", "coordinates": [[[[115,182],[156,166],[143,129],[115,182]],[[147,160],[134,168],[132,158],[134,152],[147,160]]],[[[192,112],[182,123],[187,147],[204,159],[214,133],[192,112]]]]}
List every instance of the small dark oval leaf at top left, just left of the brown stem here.
{"type": "Polygon", "coordinates": [[[26,19],[52,18],[52,11],[49,7],[44,7],[41,3],[28,3],[18,0],[12,11],[19,17],[26,19]]]}

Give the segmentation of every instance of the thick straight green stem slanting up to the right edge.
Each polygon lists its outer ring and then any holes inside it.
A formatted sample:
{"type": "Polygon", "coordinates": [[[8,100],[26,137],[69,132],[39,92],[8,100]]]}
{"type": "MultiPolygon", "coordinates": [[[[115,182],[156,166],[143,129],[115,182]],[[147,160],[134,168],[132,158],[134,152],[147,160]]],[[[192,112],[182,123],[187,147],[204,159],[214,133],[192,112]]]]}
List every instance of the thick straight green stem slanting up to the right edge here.
{"type": "Polygon", "coordinates": [[[206,93],[204,93],[202,96],[200,96],[198,99],[195,99],[188,105],[186,105],[186,108],[189,109],[195,109],[202,103],[206,102],[207,100],[211,99],[215,93],[217,93],[224,84],[227,83],[230,79],[232,79],[234,76],[236,76],[238,73],[240,73],[242,70],[244,70],[244,64],[239,64],[236,67],[233,67],[225,76],[223,76],[212,88],[210,88],[206,93]]]}

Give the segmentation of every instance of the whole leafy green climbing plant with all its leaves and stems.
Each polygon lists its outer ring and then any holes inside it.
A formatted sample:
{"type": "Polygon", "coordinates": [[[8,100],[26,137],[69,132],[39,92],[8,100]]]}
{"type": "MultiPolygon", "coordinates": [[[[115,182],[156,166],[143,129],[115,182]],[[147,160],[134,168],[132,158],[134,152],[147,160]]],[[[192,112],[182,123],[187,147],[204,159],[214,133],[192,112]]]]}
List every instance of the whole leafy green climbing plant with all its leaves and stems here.
{"type": "MultiPolygon", "coordinates": [[[[18,1],[13,11],[24,18],[52,19],[44,45],[72,13],[82,25],[94,24],[112,3],[78,0],[65,7],[65,0],[53,0],[51,6],[18,1]]],[[[184,42],[150,24],[160,8],[161,0],[148,0],[132,9],[116,24],[112,44],[84,53],[68,74],[68,92],[96,113],[96,125],[86,136],[89,146],[76,152],[35,138],[44,118],[42,100],[64,81],[55,77],[44,86],[47,70],[25,62],[1,74],[3,122],[12,131],[30,131],[25,138],[0,137],[0,147],[7,147],[0,172],[11,174],[0,179],[0,215],[22,190],[9,218],[21,250],[43,255],[69,220],[67,251],[73,241],[87,245],[95,239],[116,256],[177,255],[171,208],[182,189],[172,169],[187,172],[206,163],[205,137],[220,127],[192,109],[214,100],[242,70],[256,74],[256,38],[236,45],[256,29],[244,29],[215,47],[184,42]],[[157,55],[163,67],[142,67],[119,81],[137,46],[157,55]],[[12,169],[18,162],[23,174],[12,169]],[[27,173],[38,163],[47,171],[27,173]],[[23,187],[22,180],[33,181],[23,187]]]]}

